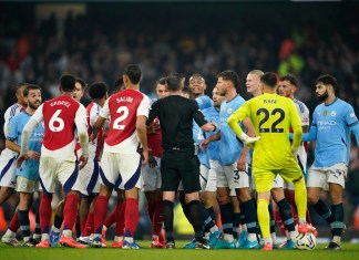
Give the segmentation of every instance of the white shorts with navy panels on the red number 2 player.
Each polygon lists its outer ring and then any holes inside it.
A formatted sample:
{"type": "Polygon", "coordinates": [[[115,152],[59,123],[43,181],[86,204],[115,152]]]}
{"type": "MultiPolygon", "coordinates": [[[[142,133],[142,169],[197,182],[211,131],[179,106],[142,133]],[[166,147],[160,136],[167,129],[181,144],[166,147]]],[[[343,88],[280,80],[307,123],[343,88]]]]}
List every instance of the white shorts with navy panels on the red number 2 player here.
{"type": "Polygon", "coordinates": [[[120,154],[103,152],[101,158],[101,183],[114,189],[141,188],[142,162],[139,153],[120,154]]]}

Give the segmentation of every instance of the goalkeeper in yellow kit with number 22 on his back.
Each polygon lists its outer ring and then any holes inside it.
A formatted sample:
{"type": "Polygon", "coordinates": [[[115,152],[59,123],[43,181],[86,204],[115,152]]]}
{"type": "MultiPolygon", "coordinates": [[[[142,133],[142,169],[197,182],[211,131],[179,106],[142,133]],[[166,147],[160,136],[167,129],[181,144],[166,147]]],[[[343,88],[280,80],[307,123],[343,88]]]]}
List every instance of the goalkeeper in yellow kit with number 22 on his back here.
{"type": "MultiPolygon", "coordinates": [[[[305,179],[296,160],[296,150],[301,141],[301,123],[291,100],[276,94],[278,76],[265,73],[260,77],[263,95],[247,101],[228,118],[229,127],[244,142],[254,146],[253,175],[257,188],[257,216],[265,240],[263,250],[271,250],[273,241],[269,232],[268,205],[273,180],[279,174],[286,181],[294,183],[296,205],[299,217],[299,232],[307,232],[306,223],[307,191],[305,179]],[[238,122],[249,117],[257,137],[248,137],[243,133],[238,122]],[[290,145],[289,128],[294,131],[290,145]]],[[[290,236],[295,240],[296,235],[290,236]]]]}

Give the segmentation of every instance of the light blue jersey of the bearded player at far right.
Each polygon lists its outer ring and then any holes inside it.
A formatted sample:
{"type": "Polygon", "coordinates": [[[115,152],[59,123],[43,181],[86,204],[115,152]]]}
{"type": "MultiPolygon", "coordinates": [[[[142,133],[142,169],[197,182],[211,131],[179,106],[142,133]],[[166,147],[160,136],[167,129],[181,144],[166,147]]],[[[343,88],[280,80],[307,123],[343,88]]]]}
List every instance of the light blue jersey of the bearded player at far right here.
{"type": "Polygon", "coordinates": [[[350,104],[336,98],[331,104],[320,104],[312,113],[311,127],[317,128],[315,148],[316,167],[329,167],[339,163],[349,164],[350,127],[358,118],[350,104]]]}

